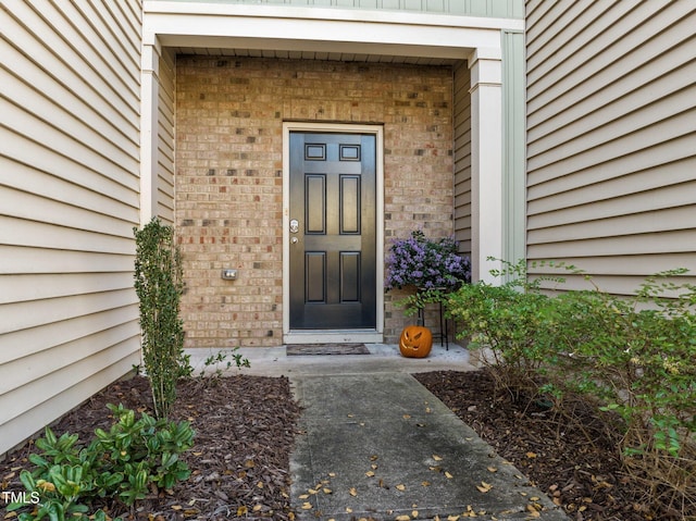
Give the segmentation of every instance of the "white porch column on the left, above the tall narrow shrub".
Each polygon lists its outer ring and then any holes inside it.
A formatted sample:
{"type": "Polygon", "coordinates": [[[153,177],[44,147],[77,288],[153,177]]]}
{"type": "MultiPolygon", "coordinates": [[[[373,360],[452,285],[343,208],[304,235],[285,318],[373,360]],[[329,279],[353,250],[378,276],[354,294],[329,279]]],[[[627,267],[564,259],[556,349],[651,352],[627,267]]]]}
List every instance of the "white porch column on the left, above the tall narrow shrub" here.
{"type": "Polygon", "coordinates": [[[158,76],[157,45],[144,44],[140,55],[140,225],[158,214],[158,76]]]}

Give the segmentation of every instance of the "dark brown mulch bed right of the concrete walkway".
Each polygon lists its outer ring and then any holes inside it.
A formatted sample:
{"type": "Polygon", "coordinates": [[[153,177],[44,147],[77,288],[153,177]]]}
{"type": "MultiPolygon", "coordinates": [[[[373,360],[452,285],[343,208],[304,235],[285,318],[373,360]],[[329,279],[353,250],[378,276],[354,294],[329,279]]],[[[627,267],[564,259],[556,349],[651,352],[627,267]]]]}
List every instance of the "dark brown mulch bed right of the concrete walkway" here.
{"type": "Polygon", "coordinates": [[[414,374],[464,423],[575,521],[685,521],[696,512],[654,505],[622,469],[618,443],[596,409],[568,400],[566,413],[497,392],[485,370],[414,374]]]}

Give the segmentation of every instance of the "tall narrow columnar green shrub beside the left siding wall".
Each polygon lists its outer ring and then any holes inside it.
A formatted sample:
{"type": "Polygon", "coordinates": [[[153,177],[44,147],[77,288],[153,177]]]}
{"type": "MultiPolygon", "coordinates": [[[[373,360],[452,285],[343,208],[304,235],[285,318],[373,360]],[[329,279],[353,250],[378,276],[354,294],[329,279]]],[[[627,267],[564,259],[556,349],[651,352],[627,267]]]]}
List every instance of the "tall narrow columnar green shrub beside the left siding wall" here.
{"type": "Polygon", "coordinates": [[[176,380],[192,371],[184,355],[184,325],[178,315],[184,290],[181,255],[174,244],[174,228],[158,219],[133,231],[142,361],[152,387],[154,415],[165,418],[176,399],[176,380]]]}

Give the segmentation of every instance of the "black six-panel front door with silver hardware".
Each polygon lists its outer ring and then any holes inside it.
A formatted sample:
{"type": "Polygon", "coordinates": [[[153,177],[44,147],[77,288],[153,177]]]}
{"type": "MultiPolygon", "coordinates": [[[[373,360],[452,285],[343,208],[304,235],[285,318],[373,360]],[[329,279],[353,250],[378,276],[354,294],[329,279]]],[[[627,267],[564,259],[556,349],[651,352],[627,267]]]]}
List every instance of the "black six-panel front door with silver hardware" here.
{"type": "Polygon", "coordinates": [[[375,136],[290,133],[290,328],[374,328],[375,136]]]}

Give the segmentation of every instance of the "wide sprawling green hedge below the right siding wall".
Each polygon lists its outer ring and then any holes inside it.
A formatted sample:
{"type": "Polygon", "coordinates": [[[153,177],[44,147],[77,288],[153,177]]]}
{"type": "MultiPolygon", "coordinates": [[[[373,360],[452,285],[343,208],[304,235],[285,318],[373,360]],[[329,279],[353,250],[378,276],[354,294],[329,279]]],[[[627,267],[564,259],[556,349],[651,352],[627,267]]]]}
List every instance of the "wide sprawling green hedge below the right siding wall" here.
{"type": "Polygon", "coordinates": [[[494,274],[509,282],[465,285],[447,300],[459,336],[488,350],[483,361],[511,394],[546,393],[569,421],[569,393],[620,418],[606,426],[620,430],[627,475],[659,508],[696,511],[696,286],[680,283],[686,270],[646,277],[632,296],[595,287],[546,297],[523,261],[504,265],[494,274]]]}

